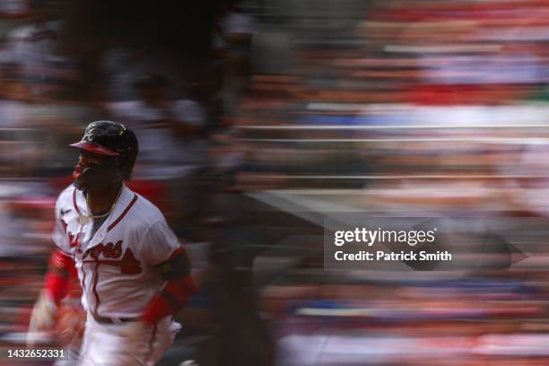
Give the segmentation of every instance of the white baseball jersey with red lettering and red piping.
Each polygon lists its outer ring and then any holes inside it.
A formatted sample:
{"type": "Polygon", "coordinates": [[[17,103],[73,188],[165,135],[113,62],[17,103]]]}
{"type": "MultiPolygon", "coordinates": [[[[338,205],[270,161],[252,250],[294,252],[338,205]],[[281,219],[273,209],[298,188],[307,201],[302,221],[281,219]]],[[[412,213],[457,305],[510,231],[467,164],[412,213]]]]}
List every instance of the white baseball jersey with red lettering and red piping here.
{"type": "Polygon", "coordinates": [[[85,197],[72,185],[59,195],[52,239],[73,257],[83,307],[101,317],[143,314],[163,282],[153,268],[180,248],[160,210],[123,186],[109,217],[92,235],[85,197]]]}

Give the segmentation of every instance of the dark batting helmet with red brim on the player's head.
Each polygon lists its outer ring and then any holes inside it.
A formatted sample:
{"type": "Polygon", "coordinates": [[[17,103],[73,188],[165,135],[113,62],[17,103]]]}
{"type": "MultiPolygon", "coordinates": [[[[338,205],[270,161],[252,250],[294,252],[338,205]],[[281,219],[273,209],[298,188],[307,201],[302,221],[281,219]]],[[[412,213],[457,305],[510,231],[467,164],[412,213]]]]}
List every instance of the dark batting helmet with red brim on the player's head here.
{"type": "Polygon", "coordinates": [[[83,171],[86,185],[99,186],[131,178],[139,152],[137,137],[126,126],[113,121],[95,121],[88,125],[82,140],[70,146],[109,157],[104,165],[83,171]]]}

